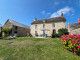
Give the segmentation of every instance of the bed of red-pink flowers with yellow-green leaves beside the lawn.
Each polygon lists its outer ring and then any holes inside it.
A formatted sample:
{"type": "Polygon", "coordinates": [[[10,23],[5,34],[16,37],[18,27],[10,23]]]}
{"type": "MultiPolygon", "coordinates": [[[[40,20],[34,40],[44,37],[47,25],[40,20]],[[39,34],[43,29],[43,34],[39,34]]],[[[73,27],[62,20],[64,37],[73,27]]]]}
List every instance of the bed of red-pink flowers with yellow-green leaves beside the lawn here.
{"type": "Polygon", "coordinates": [[[80,55],[80,34],[63,35],[61,41],[69,51],[80,55]]]}

